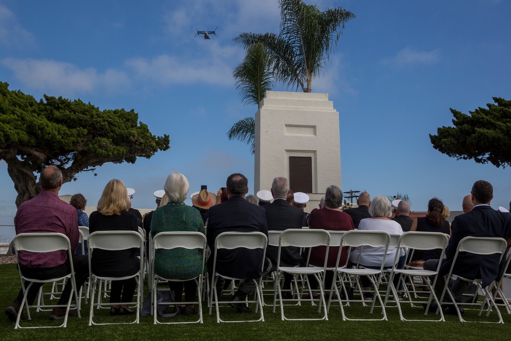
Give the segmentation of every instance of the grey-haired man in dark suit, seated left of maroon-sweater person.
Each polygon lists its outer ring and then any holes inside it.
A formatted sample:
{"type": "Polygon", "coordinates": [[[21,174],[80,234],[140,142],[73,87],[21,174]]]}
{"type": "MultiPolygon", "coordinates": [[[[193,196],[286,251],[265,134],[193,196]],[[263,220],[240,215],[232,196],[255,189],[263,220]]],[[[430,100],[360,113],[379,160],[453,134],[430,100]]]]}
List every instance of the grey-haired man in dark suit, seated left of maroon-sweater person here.
{"type": "MultiPolygon", "coordinates": [[[[286,198],[289,193],[289,181],[285,177],[276,177],[271,184],[271,194],[273,202],[263,208],[266,211],[266,221],[268,222],[268,230],[285,231],[287,229],[301,229],[303,226],[304,211],[291,206],[286,198]]],[[[276,270],[278,258],[278,246],[268,245],[266,256],[272,263],[272,271],[276,270]]],[[[301,261],[299,247],[283,247],[281,250],[281,266],[296,266],[301,261]]],[[[286,274],[284,277],[284,289],[289,289],[291,275],[286,274]]]]}

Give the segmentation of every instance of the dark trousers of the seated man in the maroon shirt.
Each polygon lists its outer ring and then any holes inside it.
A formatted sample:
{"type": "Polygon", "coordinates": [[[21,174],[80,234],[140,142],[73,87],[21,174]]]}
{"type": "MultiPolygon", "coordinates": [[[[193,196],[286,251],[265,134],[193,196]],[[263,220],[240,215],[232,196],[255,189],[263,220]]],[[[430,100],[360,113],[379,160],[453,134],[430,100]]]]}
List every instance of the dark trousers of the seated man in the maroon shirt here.
{"type": "MultiPolygon", "coordinates": [[[[73,255],[73,268],[75,270],[75,281],[77,290],[80,290],[81,286],[87,278],[89,277],[89,262],[87,256],[81,255],[73,255]]],[[[25,265],[19,264],[21,268],[21,273],[24,276],[37,279],[37,280],[48,280],[52,278],[64,277],[71,272],[71,266],[69,265],[69,260],[64,262],[61,265],[55,267],[39,267],[39,268],[31,268],[25,265]]],[[[31,282],[25,281],[25,288],[29,286],[31,282]]],[[[43,283],[34,282],[27,293],[27,302],[29,305],[34,304],[35,298],[37,297],[37,293],[39,292],[39,288],[43,285],[43,283]]],[[[60,295],[60,299],[57,302],[59,305],[67,304],[69,300],[69,295],[71,295],[71,280],[68,280],[64,286],[64,290],[62,290],[62,294],[60,295]]],[[[21,302],[23,299],[23,290],[20,289],[18,293],[17,300],[21,302]]],[[[73,298],[76,301],[76,297],[73,298]]]]}

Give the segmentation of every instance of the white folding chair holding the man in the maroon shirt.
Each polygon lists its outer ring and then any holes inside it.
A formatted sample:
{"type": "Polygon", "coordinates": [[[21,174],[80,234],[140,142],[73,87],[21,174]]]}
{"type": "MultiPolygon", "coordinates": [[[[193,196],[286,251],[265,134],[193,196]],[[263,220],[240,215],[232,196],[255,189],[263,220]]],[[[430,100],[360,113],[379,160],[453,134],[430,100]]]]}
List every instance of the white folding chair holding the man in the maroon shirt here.
{"type": "Polygon", "coordinates": [[[67,316],[69,313],[69,309],[71,307],[77,309],[78,317],[80,317],[80,300],[77,300],[76,304],[71,304],[71,301],[73,299],[73,293],[75,294],[75,297],[78,298],[78,292],[76,288],[76,281],[75,281],[75,270],[73,268],[73,261],[72,261],[72,252],[71,252],[71,243],[69,242],[69,239],[61,234],[61,233],[21,233],[16,235],[14,237],[13,241],[13,247],[16,250],[16,261],[19,264],[19,253],[20,252],[33,252],[33,253],[49,253],[54,251],[60,251],[65,250],[67,251],[67,259],[69,261],[69,267],[70,272],[66,276],[62,276],[59,278],[52,278],[48,280],[39,280],[30,278],[29,276],[24,276],[21,273],[21,268],[18,266],[19,270],[19,279],[21,281],[21,288],[23,290],[23,299],[21,300],[18,317],[16,319],[16,324],[14,325],[14,329],[17,328],[52,328],[52,327],[65,327],[67,325],[67,316]],[[65,307],[65,317],[64,322],[59,326],[38,326],[38,327],[21,327],[19,325],[19,320],[22,314],[22,309],[26,308],[27,310],[27,320],[30,320],[30,310],[29,308],[38,308],[39,304],[37,305],[31,305],[29,306],[27,302],[27,293],[29,289],[32,287],[34,283],[51,283],[51,282],[60,282],[64,278],[67,278],[72,283],[73,291],[69,295],[69,300],[67,301],[66,305],[45,305],[47,308],[55,308],[55,307],[65,307]],[[24,281],[29,281],[30,284],[27,288],[25,288],[24,281]]]}

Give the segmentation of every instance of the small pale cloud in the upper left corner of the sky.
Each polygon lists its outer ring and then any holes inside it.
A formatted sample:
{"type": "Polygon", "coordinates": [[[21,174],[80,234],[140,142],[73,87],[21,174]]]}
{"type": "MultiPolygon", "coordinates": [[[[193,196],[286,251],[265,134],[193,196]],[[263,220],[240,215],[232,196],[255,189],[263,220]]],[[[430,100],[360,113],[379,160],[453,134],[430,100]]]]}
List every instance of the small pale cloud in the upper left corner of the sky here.
{"type": "Polygon", "coordinates": [[[27,47],[34,44],[34,36],[25,30],[7,7],[0,4],[0,46],[27,47]]]}

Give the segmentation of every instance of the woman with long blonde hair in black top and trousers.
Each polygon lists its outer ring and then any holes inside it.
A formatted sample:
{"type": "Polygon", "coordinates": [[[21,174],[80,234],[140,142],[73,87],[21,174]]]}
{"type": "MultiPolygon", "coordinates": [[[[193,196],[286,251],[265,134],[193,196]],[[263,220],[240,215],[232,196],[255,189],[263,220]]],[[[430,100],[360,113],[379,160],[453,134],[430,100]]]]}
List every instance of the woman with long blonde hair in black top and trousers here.
{"type": "MultiPolygon", "coordinates": [[[[123,181],[108,181],[98,201],[98,211],[89,217],[89,232],[96,231],[136,231],[136,216],[128,212],[130,200],[123,181]]],[[[135,257],[138,249],[122,251],[104,251],[96,249],[91,257],[92,273],[98,276],[124,277],[136,274],[140,270],[140,261],[135,257]]],[[[134,278],[112,281],[110,303],[131,302],[135,293],[134,278]],[[121,298],[122,294],[122,298],[121,298]]],[[[127,305],[113,305],[110,315],[127,315],[133,312],[127,305]]]]}

